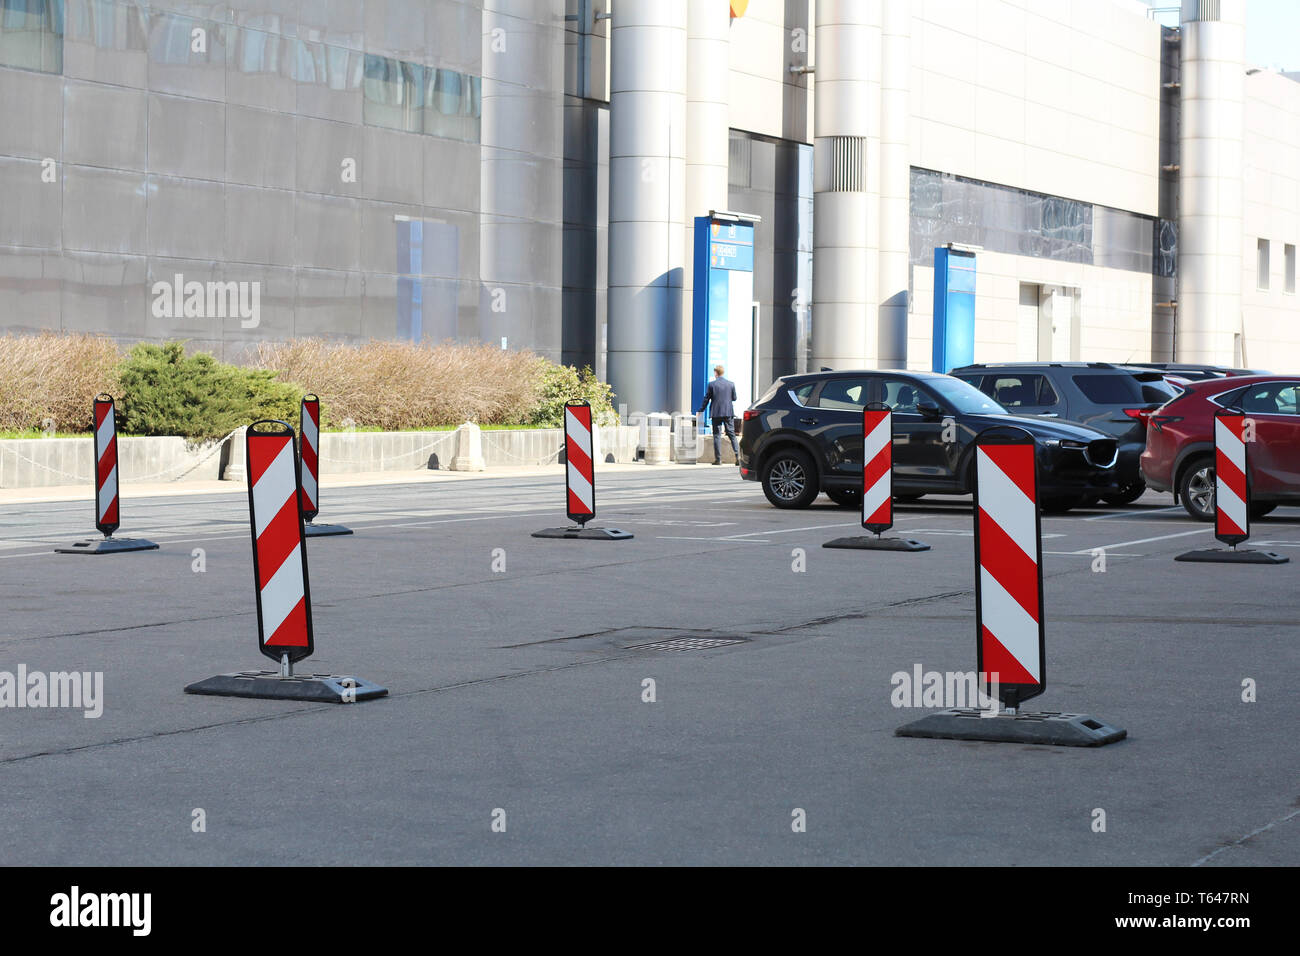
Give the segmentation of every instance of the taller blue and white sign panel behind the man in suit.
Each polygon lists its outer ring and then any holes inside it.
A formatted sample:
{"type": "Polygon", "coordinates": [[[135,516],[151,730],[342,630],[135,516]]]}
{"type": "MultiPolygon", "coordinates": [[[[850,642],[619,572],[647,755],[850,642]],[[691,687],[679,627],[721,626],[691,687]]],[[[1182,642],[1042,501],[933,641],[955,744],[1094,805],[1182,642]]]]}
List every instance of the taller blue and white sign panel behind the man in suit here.
{"type": "Polygon", "coordinates": [[[745,408],[754,401],[754,224],[697,216],[694,261],[690,399],[722,365],[745,408]]]}

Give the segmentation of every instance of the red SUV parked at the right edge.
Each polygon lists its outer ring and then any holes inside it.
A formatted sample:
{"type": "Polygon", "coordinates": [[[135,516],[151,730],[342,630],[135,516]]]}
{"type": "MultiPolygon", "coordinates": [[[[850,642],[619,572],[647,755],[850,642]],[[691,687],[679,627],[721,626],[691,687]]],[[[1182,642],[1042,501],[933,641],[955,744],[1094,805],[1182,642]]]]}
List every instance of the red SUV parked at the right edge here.
{"type": "Polygon", "coordinates": [[[1251,516],[1300,503],[1300,376],[1254,375],[1188,382],[1152,412],[1141,473],[1173,490],[1187,514],[1214,519],[1214,412],[1240,408],[1254,419],[1249,449],[1251,516]]]}

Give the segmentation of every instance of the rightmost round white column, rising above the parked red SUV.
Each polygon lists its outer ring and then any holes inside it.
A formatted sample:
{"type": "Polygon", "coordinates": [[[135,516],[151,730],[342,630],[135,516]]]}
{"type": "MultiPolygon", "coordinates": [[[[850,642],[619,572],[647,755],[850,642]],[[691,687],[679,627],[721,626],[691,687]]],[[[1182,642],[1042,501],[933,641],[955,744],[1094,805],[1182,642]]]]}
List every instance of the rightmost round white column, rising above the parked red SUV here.
{"type": "Polygon", "coordinates": [[[1242,330],[1245,0],[1183,0],[1178,362],[1232,363],[1242,330]]]}

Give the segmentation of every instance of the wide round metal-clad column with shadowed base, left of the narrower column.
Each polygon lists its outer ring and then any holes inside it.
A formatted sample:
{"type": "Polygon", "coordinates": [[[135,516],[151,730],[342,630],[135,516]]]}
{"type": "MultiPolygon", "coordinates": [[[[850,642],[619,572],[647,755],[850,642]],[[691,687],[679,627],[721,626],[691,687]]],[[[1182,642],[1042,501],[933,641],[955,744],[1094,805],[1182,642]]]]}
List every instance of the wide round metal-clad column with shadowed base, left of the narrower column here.
{"type": "Polygon", "coordinates": [[[610,31],[608,381],[676,405],[686,264],[686,0],[619,0],[610,31]]]}

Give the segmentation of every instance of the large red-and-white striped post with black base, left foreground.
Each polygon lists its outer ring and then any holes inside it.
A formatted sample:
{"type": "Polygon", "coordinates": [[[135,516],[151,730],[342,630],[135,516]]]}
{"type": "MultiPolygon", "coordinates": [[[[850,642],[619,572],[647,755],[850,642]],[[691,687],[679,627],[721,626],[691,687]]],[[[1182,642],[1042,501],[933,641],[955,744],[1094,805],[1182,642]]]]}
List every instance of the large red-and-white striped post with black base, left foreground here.
{"type": "Polygon", "coordinates": [[[294,429],[285,421],[255,421],[248,425],[244,442],[257,649],[278,661],[280,670],[218,674],[190,684],[186,693],[333,704],[382,697],[386,688],[360,678],[294,675],[294,663],[316,649],[303,533],[303,483],[294,429]]]}

